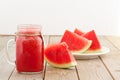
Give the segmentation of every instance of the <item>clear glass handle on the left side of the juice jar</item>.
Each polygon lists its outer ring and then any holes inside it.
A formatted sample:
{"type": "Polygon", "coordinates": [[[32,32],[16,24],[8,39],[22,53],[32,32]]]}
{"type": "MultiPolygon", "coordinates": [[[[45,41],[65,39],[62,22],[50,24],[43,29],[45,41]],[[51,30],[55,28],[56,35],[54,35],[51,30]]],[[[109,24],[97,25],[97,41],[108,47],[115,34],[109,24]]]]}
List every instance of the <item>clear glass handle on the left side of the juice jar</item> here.
{"type": "MultiPolygon", "coordinates": [[[[7,42],[7,47],[6,47],[6,57],[7,57],[7,62],[9,63],[9,64],[12,64],[12,65],[15,65],[15,60],[12,60],[12,59],[15,59],[15,57],[13,57],[13,56],[15,56],[15,54],[13,55],[13,54],[11,54],[10,55],[10,48],[14,48],[15,49],[15,39],[10,39],[8,42],[7,42]],[[13,45],[14,44],[14,45],[13,45]]],[[[11,53],[13,53],[13,50],[14,49],[12,49],[12,52],[11,53]]]]}

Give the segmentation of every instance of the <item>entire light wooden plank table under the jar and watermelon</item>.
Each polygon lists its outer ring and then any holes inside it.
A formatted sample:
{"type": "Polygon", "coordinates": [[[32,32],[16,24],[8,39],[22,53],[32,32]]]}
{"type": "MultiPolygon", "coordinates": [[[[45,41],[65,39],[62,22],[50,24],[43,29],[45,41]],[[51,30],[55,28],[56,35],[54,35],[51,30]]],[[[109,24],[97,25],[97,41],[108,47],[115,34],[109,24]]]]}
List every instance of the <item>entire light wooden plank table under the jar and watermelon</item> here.
{"type": "MultiPolygon", "coordinates": [[[[45,45],[60,39],[61,36],[57,35],[44,36],[45,45]]],[[[103,46],[110,49],[108,54],[96,59],[77,60],[78,65],[70,69],[54,68],[45,63],[44,73],[35,75],[17,73],[15,66],[7,63],[3,48],[0,50],[0,80],[120,80],[120,37],[99,36],[99,39],[103,46]]]]}

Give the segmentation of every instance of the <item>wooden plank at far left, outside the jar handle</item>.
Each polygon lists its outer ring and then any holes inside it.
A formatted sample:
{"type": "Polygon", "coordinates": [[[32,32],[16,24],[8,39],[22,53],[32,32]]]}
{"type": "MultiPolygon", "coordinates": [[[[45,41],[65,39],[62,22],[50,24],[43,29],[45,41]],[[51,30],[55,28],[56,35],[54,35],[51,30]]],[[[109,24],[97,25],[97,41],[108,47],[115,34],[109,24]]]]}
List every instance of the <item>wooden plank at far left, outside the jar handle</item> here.
{"type": "Polygon", "coordinates": [[[0,80],[8,80],[14,69],[14,66],[7,62],[5,50],[7,41],[12,38],[14,37],[0,35],[0,80]]]}

